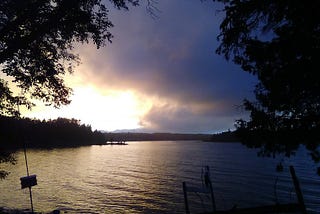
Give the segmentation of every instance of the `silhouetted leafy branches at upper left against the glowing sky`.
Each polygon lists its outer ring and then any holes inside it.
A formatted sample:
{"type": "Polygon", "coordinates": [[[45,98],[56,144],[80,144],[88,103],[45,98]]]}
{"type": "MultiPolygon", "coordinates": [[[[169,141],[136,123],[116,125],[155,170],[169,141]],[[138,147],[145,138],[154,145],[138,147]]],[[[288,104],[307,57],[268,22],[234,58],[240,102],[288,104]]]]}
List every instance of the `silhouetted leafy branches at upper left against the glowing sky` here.
{"type": "MultiPolygon", "coordinates": [[[[118,8],[136,0],[110,0],[118,8]]],[[[2,73],[22,90],[24,102],[0,82],[0,113],[16,115],[14,104],[31,107],[36,98],[56,107],[70,102],[71,88],[63,75],[74,70],[79,57],[75,43],[92,40],[97,48],[111,41],[108,10],[101,0],[0,1],[0,65],[2,73]]]]}

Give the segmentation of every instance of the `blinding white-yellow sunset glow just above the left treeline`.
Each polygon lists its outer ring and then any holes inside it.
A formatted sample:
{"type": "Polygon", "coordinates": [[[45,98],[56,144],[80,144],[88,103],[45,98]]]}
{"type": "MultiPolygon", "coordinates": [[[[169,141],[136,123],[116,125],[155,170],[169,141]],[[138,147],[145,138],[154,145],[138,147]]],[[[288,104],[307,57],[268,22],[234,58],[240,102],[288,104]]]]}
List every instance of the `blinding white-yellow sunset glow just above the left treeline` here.
{"type": "Polygon", "coordinates": [[[140,128],[139,118],[150,108],[150,103],[140,101],[131,91],[102,93],[95,88],[74,89],[72,102],[61,109],[37,106],[23,115],[38,119],[57,117],[76,118],[93,129],[114,131],[140,128]]]}

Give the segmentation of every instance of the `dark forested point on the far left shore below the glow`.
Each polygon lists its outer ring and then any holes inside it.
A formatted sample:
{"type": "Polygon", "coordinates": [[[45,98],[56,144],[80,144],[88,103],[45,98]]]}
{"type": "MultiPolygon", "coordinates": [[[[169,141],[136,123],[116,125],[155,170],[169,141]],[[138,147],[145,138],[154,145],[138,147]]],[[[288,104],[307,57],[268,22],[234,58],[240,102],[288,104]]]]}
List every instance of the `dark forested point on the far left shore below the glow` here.
{"type": "Polygon", "coordinates": [[[35,120],[0,116],[0,147],[73,147],[104,144],[101,132],[76,119],[35,120]]]}

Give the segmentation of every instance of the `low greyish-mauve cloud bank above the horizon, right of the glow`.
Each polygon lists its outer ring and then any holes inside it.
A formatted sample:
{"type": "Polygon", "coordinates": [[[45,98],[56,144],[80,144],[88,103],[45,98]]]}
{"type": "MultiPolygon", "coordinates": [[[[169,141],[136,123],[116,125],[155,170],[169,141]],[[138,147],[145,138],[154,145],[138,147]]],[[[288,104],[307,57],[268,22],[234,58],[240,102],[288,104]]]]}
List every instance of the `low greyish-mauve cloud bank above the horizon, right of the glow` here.
{"type": "MultiPolygon", "coordinates": [[[[179,132],[179,133],[212,133],[224,131],[230,127],[234,117],[222,113],[220,107],[209,111],[198,111],[192,106],[157,105],[141,118],[141,131],[179,132]]],[[[232,128],[232,127],[230,127],[232,128]]]]}

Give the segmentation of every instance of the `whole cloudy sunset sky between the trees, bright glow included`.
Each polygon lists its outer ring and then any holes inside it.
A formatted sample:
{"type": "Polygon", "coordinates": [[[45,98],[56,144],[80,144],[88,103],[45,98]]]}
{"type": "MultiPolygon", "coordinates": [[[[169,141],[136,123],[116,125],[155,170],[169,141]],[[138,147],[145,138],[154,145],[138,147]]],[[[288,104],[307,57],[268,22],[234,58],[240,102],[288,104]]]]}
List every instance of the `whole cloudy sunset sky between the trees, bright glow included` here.
{"type": "MultiPolygon", "coordinates": [[[[112,43],[77,44],[81,64],[65,77],[72,102],[60,109],[37,103],[23,116],[76,118],[103,131],[217,133],[247,118],[256,79],[215,53],[223,18],[212,1],[146,2],[129,11],[110,7],[112,43]]],[[[110,5],[108,5],[110,6],[110,5]]]]}

